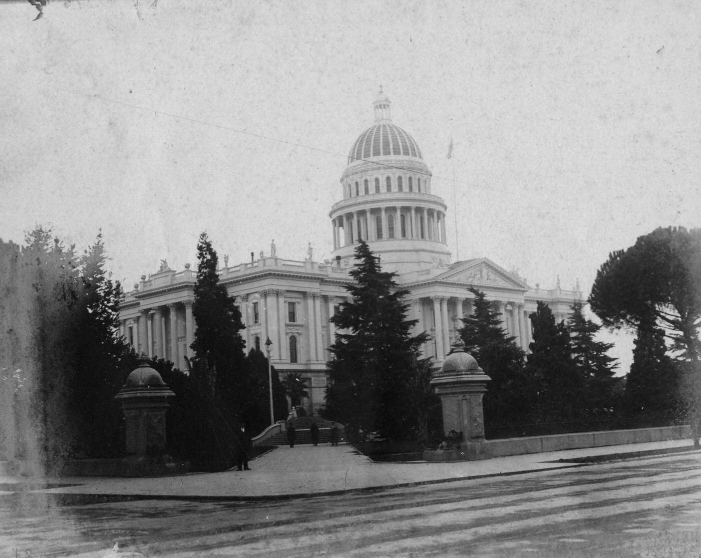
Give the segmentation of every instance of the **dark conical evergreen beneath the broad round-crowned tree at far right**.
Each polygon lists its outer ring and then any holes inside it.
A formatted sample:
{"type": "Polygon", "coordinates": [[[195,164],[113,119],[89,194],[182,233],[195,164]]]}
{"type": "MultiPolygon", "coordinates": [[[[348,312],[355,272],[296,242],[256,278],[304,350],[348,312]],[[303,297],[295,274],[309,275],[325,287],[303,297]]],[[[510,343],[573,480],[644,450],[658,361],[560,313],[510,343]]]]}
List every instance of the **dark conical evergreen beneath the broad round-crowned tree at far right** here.
{"type": "Polygon", "coordinates": [[[667,354],[665,331],[643,321],[634,341],[633,362],[626,376],[624,402],[629,415],[683,415],[678,365],[667,354]]]}

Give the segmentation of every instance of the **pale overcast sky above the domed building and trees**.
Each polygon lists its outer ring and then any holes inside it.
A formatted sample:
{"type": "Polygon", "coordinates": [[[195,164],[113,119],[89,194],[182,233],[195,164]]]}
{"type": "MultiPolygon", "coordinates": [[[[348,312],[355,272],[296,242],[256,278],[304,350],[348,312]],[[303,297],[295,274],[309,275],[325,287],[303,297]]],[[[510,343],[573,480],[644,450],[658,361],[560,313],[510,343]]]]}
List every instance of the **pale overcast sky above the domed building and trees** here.
{"type": "Polygon", "coordinates": [[[453,261],[588,294],[611,250],[701,226],[698,2],[155,4],[32,21],[0,1],[3,240],[45,224],[83,250],[102,229],[129,286],[196,264],[204,230],[230,265],[273,238],[329,257],[380,85],[448,204],[453,261]]]}

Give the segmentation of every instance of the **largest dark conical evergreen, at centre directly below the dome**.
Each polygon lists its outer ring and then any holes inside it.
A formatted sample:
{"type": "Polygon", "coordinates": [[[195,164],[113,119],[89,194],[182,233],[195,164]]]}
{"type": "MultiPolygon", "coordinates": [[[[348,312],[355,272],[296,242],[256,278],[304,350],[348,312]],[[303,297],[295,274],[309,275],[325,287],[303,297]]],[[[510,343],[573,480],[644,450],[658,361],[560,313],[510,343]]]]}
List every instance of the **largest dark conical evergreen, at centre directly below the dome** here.
{"type": "Polygon", "coordinates": [[[351,300],[332,318],[338,332],[327,364],[324,415],[348,425],[351,434],[362,428],[407,440],[417,435],[411,386],[428,335],[411,335],[416,320],[406,319],[409,292],[397,288],[395,273],[381,271],[379,258],[362,240],[355,259],[355,283],[346,286],[351,300]]]}

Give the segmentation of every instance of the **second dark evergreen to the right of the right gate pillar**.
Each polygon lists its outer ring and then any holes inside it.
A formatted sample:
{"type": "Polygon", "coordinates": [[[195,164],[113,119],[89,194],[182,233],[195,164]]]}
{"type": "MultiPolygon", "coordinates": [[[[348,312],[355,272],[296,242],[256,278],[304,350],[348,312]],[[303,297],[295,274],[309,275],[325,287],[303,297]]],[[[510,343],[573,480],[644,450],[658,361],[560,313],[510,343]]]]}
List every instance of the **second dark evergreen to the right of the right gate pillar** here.
{"type": "Polygon", "coordinates": [[[538,301],[531,314],[533,342],[526,358],[526,374],[536,390],[536,422],[570,422],[581,419],[585,407],[585,381],[573,362],[570,334],[564,322],[555,323],[547,304],[538,301]]]}

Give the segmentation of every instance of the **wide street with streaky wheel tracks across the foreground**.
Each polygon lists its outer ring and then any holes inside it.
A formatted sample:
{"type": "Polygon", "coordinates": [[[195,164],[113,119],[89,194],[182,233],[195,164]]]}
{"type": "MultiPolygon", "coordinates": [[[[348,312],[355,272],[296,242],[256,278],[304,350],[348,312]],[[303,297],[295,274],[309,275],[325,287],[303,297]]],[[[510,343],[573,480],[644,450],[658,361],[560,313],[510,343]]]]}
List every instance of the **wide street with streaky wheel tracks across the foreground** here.
{"type": "Polygon", "coordinates": [[[699,465],[690,452],[265,502],[0,498],[0,557],[701,557],[699,465]]]}

